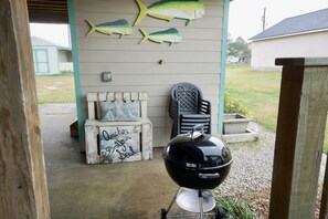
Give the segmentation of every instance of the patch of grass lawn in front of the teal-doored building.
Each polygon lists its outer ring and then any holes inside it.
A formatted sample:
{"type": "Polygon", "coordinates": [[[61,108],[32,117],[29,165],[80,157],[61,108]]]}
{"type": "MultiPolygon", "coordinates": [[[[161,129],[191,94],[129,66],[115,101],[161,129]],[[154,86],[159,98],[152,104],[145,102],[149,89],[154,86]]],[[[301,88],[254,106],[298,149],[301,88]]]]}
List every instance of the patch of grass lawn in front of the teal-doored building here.
{"type": "Polygon", "coordinates": [[[39,104],[75,103],[73,73],[35,76],[39,104]]]}

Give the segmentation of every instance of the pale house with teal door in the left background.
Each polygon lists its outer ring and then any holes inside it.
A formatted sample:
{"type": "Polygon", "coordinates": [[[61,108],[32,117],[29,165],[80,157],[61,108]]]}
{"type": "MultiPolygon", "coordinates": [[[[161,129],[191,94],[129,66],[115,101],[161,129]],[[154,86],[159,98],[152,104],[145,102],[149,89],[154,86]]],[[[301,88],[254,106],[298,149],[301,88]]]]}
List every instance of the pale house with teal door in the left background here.
{"type": "Polygon", "coordinates": [[[35,74],[73,72],[71,48],[60,46],[41,38],[32,36],[35,74]]]}

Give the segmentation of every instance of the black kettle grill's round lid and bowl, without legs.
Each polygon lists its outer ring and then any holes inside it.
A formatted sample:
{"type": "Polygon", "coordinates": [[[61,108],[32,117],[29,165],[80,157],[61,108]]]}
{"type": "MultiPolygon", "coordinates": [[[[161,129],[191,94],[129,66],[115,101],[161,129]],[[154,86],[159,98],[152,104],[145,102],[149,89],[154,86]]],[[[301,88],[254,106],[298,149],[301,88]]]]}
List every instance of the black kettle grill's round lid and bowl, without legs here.
{"type": "Polygon", "coordinates": [[[180,187],[213,189],[230,171],[231,153],[221,139],[194,129],[167,145],[162,154],[166,169],[180,187]]]}

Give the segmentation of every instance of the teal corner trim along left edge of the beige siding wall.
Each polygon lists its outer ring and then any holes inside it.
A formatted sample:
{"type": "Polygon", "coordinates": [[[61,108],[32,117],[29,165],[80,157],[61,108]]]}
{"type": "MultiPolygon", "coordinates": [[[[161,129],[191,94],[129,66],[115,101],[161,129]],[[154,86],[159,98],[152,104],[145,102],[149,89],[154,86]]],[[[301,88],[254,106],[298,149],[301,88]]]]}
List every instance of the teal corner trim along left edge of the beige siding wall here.
{"type": "Polygon", "coordinates": [[[71,28],[71,42],[72,42],[72,55],[74,66],[74,85],[75,85],[75,98],[76,98],[76,113],[77,113],[77,125],[78,125],[78,139],[84,142],[84,113],[82,107],[82,94],[81,94],[81,81],[80,81],[80,65],[77,54],[77,42],[76,42],[76,29],[75,29],[75,10],[73,0],[67,1],[68,7],[68,21],[71,28]]]}

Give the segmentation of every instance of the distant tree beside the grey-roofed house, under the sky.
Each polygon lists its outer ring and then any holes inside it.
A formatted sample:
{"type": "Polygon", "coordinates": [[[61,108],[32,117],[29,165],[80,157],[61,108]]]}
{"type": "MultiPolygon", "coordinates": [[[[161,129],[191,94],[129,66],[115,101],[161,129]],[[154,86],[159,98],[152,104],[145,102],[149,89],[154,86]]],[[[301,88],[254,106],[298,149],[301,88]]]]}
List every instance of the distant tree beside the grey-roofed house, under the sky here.
{"type": "Polygon", "coordinates": [[[237,58],[239,62],[244,62],[251,59],[251,50],[246,41],[241,36],[235,41],[228,39],[228,55],[237,58]]]}

